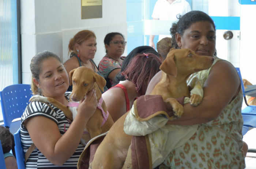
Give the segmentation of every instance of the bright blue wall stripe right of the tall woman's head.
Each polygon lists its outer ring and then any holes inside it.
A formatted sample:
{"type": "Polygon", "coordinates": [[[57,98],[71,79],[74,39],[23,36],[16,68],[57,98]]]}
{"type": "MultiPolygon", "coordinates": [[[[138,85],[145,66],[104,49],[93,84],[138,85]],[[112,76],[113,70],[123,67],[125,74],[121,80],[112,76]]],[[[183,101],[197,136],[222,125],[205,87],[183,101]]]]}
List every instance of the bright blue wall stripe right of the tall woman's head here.
{"type": "Polygon", "coordinates": [[[238,16],[211,16],[217,30],[240,30],[238,16]]]}

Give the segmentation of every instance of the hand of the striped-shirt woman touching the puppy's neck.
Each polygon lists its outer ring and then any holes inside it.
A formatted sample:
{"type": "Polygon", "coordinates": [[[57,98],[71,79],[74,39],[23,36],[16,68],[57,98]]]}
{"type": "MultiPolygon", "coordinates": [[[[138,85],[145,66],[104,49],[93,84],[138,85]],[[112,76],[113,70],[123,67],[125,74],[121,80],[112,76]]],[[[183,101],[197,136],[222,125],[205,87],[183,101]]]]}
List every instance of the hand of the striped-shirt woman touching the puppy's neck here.
{"type": "Polygon", "coordinates": [[[97,103],[96,91],[92,89],[86,97],[80,101],[78,113],[82,113],[87,119],[91,118],[97,108],[97,103]]]}

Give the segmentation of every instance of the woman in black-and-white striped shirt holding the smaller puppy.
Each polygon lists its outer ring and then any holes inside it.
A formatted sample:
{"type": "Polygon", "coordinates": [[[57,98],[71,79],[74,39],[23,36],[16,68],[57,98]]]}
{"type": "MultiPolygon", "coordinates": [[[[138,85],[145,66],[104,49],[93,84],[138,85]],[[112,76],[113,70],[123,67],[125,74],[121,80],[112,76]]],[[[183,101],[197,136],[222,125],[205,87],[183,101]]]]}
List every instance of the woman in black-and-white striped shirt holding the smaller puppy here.
{"type": "MultiPolygon", "coordinates": [[[[60,58],[49,51],[39,52],[30,64],[32,73],[31,90],[35,95],[54,98],[63,105],[69,102],[69,78],[60,58]]],[[[32,149],[26,168],[76,169],[84,146],[80,139],[86,123],[95,112],[97,97],[91,90],[80,101],[76,118],[70,121],[63,111],[50,103],[31,102],[22,115],[21,140],[24,152],[32,149]],[[58,167],[59,166],[59,167],[58,167]]]]}

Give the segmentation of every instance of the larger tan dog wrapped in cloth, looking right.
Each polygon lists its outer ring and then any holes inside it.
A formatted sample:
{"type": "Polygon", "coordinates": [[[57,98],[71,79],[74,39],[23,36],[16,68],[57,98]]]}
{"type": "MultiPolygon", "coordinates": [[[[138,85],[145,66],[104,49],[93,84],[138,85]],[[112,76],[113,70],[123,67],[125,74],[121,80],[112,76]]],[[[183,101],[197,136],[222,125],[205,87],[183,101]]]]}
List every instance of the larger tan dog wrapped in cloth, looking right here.
{"type": "MultiPolygon", "coordinates": [[[[160,82],[155,86],[151,95],[162,95],[173,106],[173,110],[180,116],[183,107],[175,98],[189,97],[186,80],[194,73],[211,67],[214,59],[210,56],[199,56],[188,49],[172,50],[160,66],[163,71],[160,82]]],[[[202,101],[197,96],[191,97],[191,104],[196,106],[202,101]],[[194,99],[193,99],[194,98],[194,99]]],[[[93,161],[93,169],[121,169],[131,145],[131,135],[124,132],[125,113],[109,130],[109,133],[99,145],[93,161]]]]}

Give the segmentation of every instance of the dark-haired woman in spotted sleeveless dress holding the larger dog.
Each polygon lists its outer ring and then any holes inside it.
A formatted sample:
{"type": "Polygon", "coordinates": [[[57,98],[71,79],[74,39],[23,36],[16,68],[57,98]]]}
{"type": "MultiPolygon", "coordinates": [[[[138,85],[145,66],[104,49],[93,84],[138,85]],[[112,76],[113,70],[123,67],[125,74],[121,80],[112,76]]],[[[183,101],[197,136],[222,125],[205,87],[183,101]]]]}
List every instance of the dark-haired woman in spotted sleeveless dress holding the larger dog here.
{"type": "MultiPolygon", "coordinates": [[[[191,11],[173,23],[170,29],[172,46],[188,48],[197,55],[212,56],[209,70],[192,74],[203,84],[204,97],[200,105],[184,105],[181,118],[168,121],[172,125],[200,127],[184,145],[174,149],[159,169],[175,168],[245,168],[242,150],[242,92],[240,79],[233,65],[215,54],[215,25],[201,11],[191,11]]],[[[146,94],[159,82],[162,71],[151,80],[146,94]]]]}

